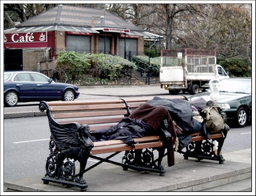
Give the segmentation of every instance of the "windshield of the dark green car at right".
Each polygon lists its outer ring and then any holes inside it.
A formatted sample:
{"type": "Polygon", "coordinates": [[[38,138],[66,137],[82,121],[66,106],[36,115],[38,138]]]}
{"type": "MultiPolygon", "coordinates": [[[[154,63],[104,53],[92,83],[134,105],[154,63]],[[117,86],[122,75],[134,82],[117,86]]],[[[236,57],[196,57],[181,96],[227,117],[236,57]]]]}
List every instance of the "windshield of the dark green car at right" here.
{"type": "Polygon", "coordinates": [[[252,93],[251,80],[221,80],[219,83],[220,92],[229,93],[252,93]]]}

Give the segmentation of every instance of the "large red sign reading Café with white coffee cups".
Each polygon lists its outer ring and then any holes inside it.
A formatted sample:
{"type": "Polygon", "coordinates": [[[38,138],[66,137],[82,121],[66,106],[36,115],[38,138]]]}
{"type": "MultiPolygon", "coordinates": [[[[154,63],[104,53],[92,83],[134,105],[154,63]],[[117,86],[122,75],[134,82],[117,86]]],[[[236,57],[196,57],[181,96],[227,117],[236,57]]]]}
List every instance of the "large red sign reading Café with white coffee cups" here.
{"type": "Polygon", "coordinates": [[[4,47],[47,47],[47,32],[4,33],[4,47]]]}

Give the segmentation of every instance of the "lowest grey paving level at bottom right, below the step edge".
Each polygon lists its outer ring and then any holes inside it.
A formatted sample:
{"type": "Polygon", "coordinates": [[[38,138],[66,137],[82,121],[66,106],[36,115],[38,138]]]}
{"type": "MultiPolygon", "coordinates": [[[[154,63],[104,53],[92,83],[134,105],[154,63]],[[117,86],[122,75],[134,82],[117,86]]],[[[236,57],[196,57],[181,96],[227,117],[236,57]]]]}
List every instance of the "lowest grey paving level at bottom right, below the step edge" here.
{"type": "Polygon", "coordinates": [[[232,192],[232,191],[252,191],[252,178],[247,178],[239,181],[235,181],[229,184],[224,184],[216,186],[213,188],[207,188],[201,191],[222,191],[222,192],[232,192]]]}

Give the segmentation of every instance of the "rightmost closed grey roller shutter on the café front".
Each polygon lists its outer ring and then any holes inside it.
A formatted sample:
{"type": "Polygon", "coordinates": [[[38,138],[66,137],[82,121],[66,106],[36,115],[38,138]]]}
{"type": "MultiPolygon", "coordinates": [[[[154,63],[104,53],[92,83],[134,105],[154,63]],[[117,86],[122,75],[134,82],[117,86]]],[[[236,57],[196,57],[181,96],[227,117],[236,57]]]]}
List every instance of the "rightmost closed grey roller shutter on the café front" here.
{"type": "MultiPolygon", "coordinates": [[[[126,53],[128,54],[129,51],[133,53],[137,52],[138,48],[138,39],[127,39],[126,38],[126,53]]],[[[120,57],[124,58],[124,38],[119,38],[119,52],[120,57]]]]}

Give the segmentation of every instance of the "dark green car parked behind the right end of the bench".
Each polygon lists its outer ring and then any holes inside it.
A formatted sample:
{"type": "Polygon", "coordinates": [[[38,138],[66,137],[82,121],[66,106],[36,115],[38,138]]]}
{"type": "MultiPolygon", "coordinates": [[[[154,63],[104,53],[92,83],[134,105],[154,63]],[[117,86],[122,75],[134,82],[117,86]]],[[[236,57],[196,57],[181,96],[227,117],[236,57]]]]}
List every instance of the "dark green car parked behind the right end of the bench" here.
{"type": "MultiPolygon", "coordinates": [[[[252,117],[252,80],[228,78],[220,80],[220,98],[217,101],[222,112],[227,114],[227,120],[233,121],[237,127],[244,127],[252,117]]],[[[210,101],[210,91],[199,93],[188,97],[188,100],[195,100],[202,97],[210,101]]]]}

